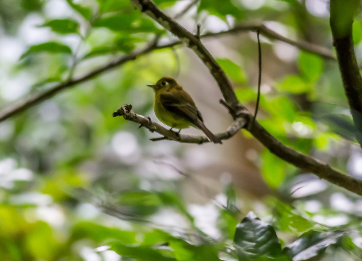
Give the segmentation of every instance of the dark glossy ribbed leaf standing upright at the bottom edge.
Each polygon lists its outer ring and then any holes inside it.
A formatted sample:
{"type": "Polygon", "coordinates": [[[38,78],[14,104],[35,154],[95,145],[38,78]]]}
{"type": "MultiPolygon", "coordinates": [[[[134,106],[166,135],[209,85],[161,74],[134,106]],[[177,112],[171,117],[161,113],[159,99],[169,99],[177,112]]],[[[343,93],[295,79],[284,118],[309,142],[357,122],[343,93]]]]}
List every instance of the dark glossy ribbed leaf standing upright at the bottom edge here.
{"type": "Polygon", "coordinates": [[[260,257],[281,256],[281,246],[274,228],[261,221],[253,212],[237,225],[234,247],[239,260],[256,260],[260,257]]]}

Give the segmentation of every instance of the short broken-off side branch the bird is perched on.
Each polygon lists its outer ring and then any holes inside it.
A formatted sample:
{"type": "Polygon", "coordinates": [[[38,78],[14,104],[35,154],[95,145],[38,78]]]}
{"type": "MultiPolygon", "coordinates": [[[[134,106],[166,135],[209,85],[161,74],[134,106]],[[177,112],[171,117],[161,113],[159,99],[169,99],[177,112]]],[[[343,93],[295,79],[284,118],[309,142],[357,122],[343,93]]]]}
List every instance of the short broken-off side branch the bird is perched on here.
{"type": "MultiPolygon", "coordinates": [[[[157,132],[163,136],[161,138],[156,138],[152,140],[167,139],[176,140],[181,143],[196,144],[210,142],[206,136],[184,135],[178,134],[177,132],[172,130],[168,130],[165,127],[159,125],[157,122],[152,121],[149,117],[135,114],[134,111],[132,111],[132,105],[124,104],[123,106],[119,107],[118,110],[113,113],[113,117],[117,116],[123,116],[123,118],[125,118],[127,121],[138,123],[140,124],[140,127],[145,127],[151,132],[157,132]]],[[[234,136],[239,130],[241,130],[245,126],[245,123],[245,119],[239,118],[234,121],[226,131],[218,133],[216,134],[216,136],[218,136],[220,139],[229,139],[234,136]]]]}

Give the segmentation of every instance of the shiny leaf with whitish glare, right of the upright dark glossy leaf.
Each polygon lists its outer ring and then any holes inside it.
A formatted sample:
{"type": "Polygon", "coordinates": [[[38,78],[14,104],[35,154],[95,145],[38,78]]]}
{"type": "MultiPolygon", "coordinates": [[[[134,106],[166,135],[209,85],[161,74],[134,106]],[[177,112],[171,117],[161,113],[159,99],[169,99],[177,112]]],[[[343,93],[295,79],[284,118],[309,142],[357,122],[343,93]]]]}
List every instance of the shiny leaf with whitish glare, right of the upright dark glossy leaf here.
{"type": "Polygon", "coordinates": [[[308,231],[303,233],[298,240],[287,245],[283,253],[292,257],[293,261],[309,260],[323,253],[328,246],[341,243],[345,232],[341,231],[308,231]]]}

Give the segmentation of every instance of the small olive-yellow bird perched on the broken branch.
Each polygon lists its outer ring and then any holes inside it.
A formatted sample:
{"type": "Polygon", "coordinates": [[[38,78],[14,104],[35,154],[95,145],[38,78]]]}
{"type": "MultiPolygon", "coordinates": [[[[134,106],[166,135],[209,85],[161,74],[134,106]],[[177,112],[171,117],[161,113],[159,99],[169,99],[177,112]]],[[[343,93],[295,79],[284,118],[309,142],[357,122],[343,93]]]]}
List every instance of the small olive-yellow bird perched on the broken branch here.
{"type": "Polygon", "coordinates": [[[162,77],[156,84],[147,86],[155,91],[153,109],[156,117],[171,127],[170,130],[179,129],[178,134],[180,134],[181,129],[193,126],[201,129],[210,141],[222,144],[220,138],[207,129],[190,94],[175,79],[162,77]]]}

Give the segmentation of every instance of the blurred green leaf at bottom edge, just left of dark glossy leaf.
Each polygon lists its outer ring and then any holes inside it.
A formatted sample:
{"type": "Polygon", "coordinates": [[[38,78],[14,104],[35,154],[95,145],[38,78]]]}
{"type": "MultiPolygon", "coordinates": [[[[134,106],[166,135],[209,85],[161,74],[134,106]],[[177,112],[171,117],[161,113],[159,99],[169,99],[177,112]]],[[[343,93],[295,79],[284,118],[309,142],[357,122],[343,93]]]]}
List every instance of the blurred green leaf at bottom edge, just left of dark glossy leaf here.
{"type": "Polygon", "coordinates": [[[212,245],[190,245],[181,239],[169,242],[177,261],[219,261],[216,248],[212,245]]]}

